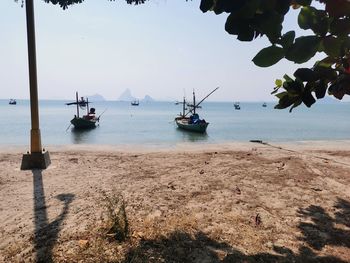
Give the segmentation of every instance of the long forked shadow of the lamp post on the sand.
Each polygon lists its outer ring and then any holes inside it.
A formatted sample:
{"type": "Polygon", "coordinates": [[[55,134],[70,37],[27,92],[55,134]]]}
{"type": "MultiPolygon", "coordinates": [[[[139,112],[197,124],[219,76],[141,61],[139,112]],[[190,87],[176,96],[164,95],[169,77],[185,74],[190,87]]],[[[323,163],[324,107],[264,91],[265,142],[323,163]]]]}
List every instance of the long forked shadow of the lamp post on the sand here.
{"type": "Polygon", "coordinates": [[[60,194],[56,198],[63,202],[59,216],[49,223],[45,202],[45,191],[41,170],[32,170],[34,188],[34,249],[36,262],[53,262],[52,249],[57,241],[61,224],[68,214],[69,204],[73,201],[73,194],[60,194]]]}

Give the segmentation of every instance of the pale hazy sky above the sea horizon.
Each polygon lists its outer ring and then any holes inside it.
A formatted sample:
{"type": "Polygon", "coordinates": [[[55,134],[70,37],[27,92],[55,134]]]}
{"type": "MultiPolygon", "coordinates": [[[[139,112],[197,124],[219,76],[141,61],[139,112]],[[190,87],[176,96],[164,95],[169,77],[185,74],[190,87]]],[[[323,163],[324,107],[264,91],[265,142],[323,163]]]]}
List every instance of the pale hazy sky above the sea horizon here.
{"type": "MultiPolygon", "coordinates": [[[[266,39],[239,42],[224,30],[227,14],[203,14],[199,0],[86,0],[65,11],[34,2],[40,99],[79,91],[116,100],[129,88],[139,98],[174,100],[219,86],[211,100],[271,101],[275,79],[298,67],[286,60],[256,67],[251,59],[266,39]]],[[[0,11],[0,98],[29,98],[25,9],[1,0],[0,11]]]]}

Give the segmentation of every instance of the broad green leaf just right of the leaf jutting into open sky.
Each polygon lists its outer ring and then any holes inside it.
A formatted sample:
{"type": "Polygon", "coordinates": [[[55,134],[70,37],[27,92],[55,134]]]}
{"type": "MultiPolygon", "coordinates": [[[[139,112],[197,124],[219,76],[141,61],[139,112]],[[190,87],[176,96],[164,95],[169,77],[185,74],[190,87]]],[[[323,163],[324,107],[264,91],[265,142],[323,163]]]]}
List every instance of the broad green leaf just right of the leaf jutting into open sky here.
{"type": "Polygon", "coordinates": [[[286,59],[295,63],[304,63],[315,56],[320,45],[317,36],[298,37],[286,52],[286,59]]]}

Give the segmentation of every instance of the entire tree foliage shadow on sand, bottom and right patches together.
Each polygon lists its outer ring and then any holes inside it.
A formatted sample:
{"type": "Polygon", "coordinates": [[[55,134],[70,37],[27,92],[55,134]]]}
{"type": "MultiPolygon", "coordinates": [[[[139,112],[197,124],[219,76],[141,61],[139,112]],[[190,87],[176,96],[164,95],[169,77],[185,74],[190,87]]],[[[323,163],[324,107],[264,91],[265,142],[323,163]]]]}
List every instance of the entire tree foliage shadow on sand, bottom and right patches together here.
{"type": "Polygon", "coordinates": [[[334,216],[327,214],[322,207],[309,206],[300,209],[298,215],[312,223],[300,223],[301,238],[306,245],[297,252],[286,247],[273,247],[273,253],[245,254],[225,242],[211,239],[203,232],[189,234],[173,232],[168,237],[155,240],[141,240],[129,251],[126,262],[191,262],[191,263],[258,263],[258,262],[320,262],[345,263],[336,256],[318,255],[325,245],[350,247],[350,232],[337,228],[336,224],[350,225],[350,203],[338,199],[334,206],[334,216]],[[313,250],[314,249],[314,250],[313,250]],[[316,250],[316,251],[315,251],[316,250]]]}

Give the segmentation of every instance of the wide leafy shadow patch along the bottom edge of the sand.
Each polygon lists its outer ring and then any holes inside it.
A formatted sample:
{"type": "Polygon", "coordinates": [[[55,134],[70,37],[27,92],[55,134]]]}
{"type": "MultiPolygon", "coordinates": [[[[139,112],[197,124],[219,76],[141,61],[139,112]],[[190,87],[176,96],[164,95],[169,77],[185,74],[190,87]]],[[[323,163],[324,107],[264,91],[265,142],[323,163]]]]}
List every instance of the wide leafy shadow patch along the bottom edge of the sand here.
{"type": "Polygon", "coordinates": [[[217,242],[202,232],[191,235],[173,232],[167,238],[142,240],[131,250],[124,263],[172,262],[172,263],[265,263],[265,262],[317,262],[345,263],[337,257],[318,256],[307,247],[298,253],[275,246],[274,253],[245,254],[224,242],[217,242]]]}

